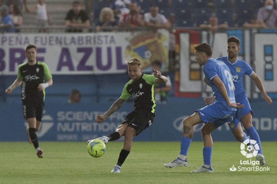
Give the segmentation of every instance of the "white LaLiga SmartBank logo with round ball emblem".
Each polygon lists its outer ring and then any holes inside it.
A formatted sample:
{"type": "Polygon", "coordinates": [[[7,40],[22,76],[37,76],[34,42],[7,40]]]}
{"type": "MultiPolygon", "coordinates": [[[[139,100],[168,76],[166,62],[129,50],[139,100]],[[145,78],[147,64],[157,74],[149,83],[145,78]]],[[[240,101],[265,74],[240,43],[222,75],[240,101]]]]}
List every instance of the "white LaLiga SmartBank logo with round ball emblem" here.
{"type": "MultiPolygon", "coordinates": [[[[257,141],[247,139],[240,144],[240,152],[246,158],[256,157],[258,150],[260,150],[257,141]]],[[[258,160],[240,160],[240,166],[235,167],[234,164],[230,167],[230,171],[270,171],[270,167],[260,167],[260,161],[258,160]],[[247,166],[249,165],[249,166],[247,166]]]]}

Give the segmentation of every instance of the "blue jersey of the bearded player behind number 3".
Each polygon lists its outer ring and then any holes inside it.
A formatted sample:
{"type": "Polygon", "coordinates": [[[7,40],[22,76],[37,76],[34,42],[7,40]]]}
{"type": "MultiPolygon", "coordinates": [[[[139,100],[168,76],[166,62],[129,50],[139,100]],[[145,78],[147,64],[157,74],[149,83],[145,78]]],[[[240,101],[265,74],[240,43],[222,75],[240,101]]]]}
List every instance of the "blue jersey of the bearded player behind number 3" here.
{"type": "Polygon", "coordinates": [[[251,66],[243,60],[237,59],[235,63],[228,61],[228,56],[219,57],[216,60],[223,61],[231,71],[234,78],[235,85],[235,98],[236,102],[241,103],[245,98],[247,98],[246,92],[243,88],[243,75],[251,76],[253,74],[253,69],[251,66]]]}

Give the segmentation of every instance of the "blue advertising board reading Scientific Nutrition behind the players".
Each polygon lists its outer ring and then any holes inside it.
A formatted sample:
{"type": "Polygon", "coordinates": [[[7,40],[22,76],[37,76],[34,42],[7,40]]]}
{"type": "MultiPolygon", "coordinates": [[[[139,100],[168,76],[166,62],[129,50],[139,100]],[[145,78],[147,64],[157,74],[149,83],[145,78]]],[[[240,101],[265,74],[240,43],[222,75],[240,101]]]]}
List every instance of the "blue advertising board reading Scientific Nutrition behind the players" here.
{"type": "MultiPolygon", "coordinates": [[[[94,122],[97,114],[103,114],[111,104],[45,104],[42,126],[38,134],[40,141],[86,141],[115,131],[127,113],[133,109],[133,103],[125,102],[122,107],[98,124],[94,122]]],[[[188,100],[187,103],[158,104],[154,123],[134,140],[137,141],[179,141],[183,135],[183,119],[194,113],[194,110],[205,106],[200,99],[188,100]]],[[[254,111],[253,125],[261,141],[277,140],[276,104],[251,102],[254,111]]],[[[1,103],[0,141],[27,141],[20,103],[1,103]]],[[[202,141],[200,129],[203,124],[194,127],[195,141],[202,141]]],[[[227,124],[212,132],[214,141],[235,141],[227,124]]],[[[121,138],[123,140],[123,138],[121,138]]]]}

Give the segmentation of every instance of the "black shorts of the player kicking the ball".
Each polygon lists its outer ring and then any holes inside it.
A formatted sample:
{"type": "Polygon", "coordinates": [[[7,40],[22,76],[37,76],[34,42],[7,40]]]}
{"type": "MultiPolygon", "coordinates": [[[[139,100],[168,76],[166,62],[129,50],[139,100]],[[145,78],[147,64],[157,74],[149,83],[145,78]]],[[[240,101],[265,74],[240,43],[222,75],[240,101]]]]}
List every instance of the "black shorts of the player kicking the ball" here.
{"type": "Polygon", "coordinates": [[[139,135],[145,128],[149,127],[154,121],[155,115],[147,109],[135,109],[124,118],[123,123],[134,128],[139,135]]]}

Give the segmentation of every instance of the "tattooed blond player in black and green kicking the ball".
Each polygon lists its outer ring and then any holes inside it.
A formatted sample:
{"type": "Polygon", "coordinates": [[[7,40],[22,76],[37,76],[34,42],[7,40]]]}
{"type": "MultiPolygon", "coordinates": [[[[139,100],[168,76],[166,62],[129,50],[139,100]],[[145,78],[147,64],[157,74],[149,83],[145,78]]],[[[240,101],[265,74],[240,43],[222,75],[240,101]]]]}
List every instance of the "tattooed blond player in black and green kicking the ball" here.
{"type": "MultiPolygon", "coordinates": [[[[99,137],[104,143],[118,140],[124,135],[123,148],[119,154],[118,162],[111,172],[119,173],[121,165],[130,153],[133,137],[149,127],[155,117],[155,84],[167,82],[167,77],[161,75],[160,71],[153,69],[154,75],[142,73],[141,61],[137,58],[131,58],[127,61],[128,74],[131,78],[122,90],[122,94],[117,101],[110,107],[104,115],[97,115],[95,121],[101,123],[111,114],[117,111],[122,104],[131,95],[134,100],[134,110],[127,114],[122,124],[119,125],[115,132],[108,136],[99,137]]],[[[91,140],[88,140],[88,143],[91,140]]]]}

